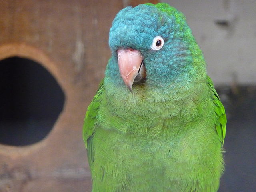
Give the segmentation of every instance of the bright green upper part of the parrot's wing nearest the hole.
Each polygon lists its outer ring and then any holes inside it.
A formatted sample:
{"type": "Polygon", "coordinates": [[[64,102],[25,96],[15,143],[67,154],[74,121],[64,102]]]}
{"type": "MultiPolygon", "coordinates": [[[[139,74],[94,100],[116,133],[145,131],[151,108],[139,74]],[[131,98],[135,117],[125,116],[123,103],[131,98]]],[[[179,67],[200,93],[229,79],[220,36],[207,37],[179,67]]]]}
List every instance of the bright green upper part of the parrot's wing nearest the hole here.
{"type": "Polygon", "coordinates": [[[102,94],[104,92],[104,79],[100,82],[99,88],[92,99],[92,102],[87,108],[87,112],[84,118],[84,126],[83,126],[83,138],[86,145],[88,146],[88,138],[92,135],[94,130],[94,124],[96,121],[96,116],[98,114],[98,108],[102,101],[102,94]]]}

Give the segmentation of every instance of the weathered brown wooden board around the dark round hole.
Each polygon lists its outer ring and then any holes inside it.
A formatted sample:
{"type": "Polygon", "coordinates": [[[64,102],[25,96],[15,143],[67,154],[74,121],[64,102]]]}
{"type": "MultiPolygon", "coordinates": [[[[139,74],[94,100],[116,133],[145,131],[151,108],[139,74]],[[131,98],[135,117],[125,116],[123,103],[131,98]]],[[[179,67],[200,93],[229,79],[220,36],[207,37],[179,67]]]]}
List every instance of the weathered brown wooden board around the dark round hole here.
{"type": "Polygon", "coordinates": [[[0,144],[0,192],[91,190],[84,114],[110,57],[108,31],[114,16],[124,6],[144,2],[0,1],[0,60],[19,56],[39,62],[66,97],[44,140],[22,147],[0,144]]]}

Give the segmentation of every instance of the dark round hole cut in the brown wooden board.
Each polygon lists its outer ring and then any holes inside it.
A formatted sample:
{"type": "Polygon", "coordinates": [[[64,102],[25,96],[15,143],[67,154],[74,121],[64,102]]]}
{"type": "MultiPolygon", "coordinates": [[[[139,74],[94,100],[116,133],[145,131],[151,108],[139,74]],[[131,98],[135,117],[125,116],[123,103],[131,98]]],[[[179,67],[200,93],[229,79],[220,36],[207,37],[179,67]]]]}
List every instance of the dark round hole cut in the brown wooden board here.
{"type": "Polygon", "coordinates": [[[0,61],[0,143],[33,144],[45,138],[64,105],[55,78],[37,62],[19,57],[0,61]]]}

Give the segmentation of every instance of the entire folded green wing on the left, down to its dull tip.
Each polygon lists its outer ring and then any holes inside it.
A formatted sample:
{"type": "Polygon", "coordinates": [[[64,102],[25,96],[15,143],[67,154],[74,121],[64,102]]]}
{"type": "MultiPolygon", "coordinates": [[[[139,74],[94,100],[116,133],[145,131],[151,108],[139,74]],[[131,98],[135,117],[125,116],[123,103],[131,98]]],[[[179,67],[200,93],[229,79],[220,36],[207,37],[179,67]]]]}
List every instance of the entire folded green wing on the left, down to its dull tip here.
{"type": "Polygon", "coordinates": [[[91,167],[93,162],[93,149],[92,149],[92,134],[94,131],[95,120],[98,114],[98,108],[102,100],[102,92],[104,90],[104,79],[100,82],[100,86],[92,99],[92,102],[87,108],[87,112],[84,118],[84,127],[83,127],[83,138],[85,146],[87,148],[87,156],[89,161],[89,166],[91,167]]]}

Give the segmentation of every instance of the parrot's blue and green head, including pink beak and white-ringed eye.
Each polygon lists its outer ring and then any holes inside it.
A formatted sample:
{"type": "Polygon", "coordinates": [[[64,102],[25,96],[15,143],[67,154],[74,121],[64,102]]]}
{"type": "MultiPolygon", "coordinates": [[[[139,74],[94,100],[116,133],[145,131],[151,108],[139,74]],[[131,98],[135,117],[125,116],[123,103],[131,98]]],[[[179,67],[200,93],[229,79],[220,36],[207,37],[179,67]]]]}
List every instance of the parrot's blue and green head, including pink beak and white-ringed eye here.
{"type": "Polygon", "coordinates": [[[122,9],[110,28],[109,46],[112,58],[106,77],[131,92],[136,85],[188,87],[206,75],[204,58],[184,15],[168,4],[122,9]]]}

